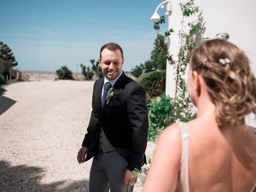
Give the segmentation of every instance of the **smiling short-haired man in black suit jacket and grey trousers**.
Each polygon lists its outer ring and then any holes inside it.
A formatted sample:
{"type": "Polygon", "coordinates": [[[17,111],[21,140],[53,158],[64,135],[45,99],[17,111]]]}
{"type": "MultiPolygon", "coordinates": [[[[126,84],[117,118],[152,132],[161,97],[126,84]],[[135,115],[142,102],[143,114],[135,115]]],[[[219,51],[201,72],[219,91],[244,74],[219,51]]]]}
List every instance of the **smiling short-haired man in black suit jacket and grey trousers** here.
{"type": "Polygon", "coordinates": [[[123,50],[118,44],[102,46],[99,62],[104,78],[94,84],[92,114],[78,163],[94,157],[90,192],[132,192],[137,182],[132,171],[146,163],[146,93],[122,71],[123,50]]]}

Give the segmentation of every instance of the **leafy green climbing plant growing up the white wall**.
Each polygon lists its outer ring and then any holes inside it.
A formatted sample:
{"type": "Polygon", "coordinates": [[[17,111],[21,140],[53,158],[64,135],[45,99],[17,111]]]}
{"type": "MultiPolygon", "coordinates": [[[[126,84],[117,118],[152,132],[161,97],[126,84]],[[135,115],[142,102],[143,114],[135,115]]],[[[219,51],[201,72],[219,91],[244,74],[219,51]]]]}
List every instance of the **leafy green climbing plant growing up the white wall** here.
{"type": "MultiPolygon", "coordinates": [[[[194,5],[194,0],[188,0],[188,2],[182,4],[180,3],[180,10],[182,12],[183,18],[181,22],[181,30],[179,31],[179,38],[180,38],[180,48],[178,53],[178,61],[174,61],[172,59],[172,55],[169,55],[168,50],[164,46],[164,40],[165,37],[172,34],[173,30],[170,29],[169,31],[165,32],[165,35],[158,34],[157,41],[158,44],[161,47],[162,52],[166,54],[166,58],[168,62],[174,67],[175,73],[174,73],[174,81],[175,81],[175,90],[174,90],[174,120],[178,119],[179,116],[179,108],[176,105],[176,101],[178,98],[178,95],[185,95],[185,82],[182,78],[182,75],[186,71],[186,67],[189,63],[190,54],[192,50],[197,46],[195,43],[196,35],[200,32],[202,32],[203,28],[203,19],[200,17],[199,7],[194,5]],[[185,27],[185,17],[192,16],[194,14],[198,14],[198,20],[189,22],[187,24],[188,32],[184,32],[183,28],[185,27]],[[201,30],[201,31],[200,31],[201,30]],[[177,113],[175,113],[175,110],[177,110],[177,113]]],[[[160,21],[154,23],[154,29],[157,30],[157,32],[160,30],[160,24],[164,23],[164,16],[161,16],[160,21]]],[[[204,28],[205,29],[205,28],[204,28]]],[[[228,39],[229,34],[227,33],[221,33],[216,35],[217,38],[224,38],[228,39]]],[[[208,38],[202,38],[203,40],[206,40],[208,38]]],[[[166,120],[170,121],[170,120],[166,120]]]]}

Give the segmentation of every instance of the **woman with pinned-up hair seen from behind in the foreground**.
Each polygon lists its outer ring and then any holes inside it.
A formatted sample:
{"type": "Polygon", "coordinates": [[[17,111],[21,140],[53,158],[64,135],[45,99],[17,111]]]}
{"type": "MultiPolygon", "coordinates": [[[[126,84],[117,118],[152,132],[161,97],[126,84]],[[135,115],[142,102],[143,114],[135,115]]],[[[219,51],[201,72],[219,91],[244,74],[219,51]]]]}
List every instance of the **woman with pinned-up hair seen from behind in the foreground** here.
{"type": "Polygon", "coordinates": [[[186,88],[197,118],[162,132],[143,192],[256,191],[256,79],[242,50],[223,39],[194,49],[186,88]]]}

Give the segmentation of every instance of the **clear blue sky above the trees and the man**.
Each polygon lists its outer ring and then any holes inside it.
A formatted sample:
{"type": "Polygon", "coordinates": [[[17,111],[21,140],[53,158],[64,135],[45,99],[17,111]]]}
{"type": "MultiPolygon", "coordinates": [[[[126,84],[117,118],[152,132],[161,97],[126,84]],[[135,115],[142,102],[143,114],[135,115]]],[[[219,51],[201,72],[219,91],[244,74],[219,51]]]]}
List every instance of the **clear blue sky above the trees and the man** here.
{"type": "MultiPolygon", "coordinates": [[[[156,38],[150,17],[160,2],[0,0],[0,41],[12,49],[19,70],[67,66],[72,72],[76,64],[90,66],[90,59],[98,60],[103,44],[116,42],[124,50],[123,70],[130,71],[150,59],[156,38]]],[[[161,27],[167,30],[167,24],[161,27]]]]}

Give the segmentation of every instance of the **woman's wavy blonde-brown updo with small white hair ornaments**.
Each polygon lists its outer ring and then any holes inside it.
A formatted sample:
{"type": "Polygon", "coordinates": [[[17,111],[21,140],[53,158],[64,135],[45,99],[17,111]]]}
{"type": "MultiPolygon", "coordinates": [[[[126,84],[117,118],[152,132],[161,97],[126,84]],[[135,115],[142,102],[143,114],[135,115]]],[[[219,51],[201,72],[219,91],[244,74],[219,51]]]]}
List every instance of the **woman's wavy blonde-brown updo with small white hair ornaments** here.
{"type": "Polygon", "coordinates": [[[190,68],[202,74],[219,126],[241,125],[247,114],[256,114],[256,80],[237,46],[224,39],[207,40],[192,51],[190,68]]]}

